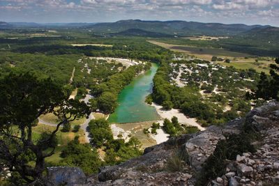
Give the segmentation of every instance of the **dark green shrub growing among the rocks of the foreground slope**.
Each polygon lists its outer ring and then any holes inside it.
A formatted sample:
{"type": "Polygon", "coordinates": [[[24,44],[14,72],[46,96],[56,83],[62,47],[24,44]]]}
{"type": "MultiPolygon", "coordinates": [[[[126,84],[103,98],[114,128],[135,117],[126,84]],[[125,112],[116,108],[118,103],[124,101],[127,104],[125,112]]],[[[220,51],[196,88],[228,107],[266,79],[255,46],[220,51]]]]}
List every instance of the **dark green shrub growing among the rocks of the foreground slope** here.
{"type": "Polygon", "coordinates": [[[250,139],[245,133],[229,134],[225,139],[218,141],[214,153],[202,165],[196,185],[207,185],[211,180],[225,174],[226,160],[235,160],[236,155],[246,152],[255,152],[250,139]]]}

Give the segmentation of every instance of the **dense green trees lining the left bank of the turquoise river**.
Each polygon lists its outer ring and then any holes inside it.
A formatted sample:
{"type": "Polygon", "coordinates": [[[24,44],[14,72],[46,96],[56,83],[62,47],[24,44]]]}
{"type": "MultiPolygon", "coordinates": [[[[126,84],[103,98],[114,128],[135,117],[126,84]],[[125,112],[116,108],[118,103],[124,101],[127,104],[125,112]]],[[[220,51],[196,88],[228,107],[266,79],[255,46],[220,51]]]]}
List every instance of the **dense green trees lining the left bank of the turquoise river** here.
{"type": "Polygon", "coordinates": [[[106,82],[92,86],[91,95],[94,99],[90,100],[91,108],[99,109],[105,114],[112,113],[117,106],[117,96],[124,86],[130,84],[135,75],[149,68],[151,68],[151,63],[133,65],[127,70],[112,75],[106,82]]]}

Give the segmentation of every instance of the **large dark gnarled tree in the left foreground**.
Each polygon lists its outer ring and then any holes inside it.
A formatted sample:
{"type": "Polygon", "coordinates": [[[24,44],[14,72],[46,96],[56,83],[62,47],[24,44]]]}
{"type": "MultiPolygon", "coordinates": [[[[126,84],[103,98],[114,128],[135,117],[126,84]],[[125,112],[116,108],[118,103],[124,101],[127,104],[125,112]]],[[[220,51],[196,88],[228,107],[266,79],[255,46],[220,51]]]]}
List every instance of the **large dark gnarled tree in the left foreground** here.
{"type": "Polygon", "coordinates": [[[39,80],[28,72],[0,79],[0,160],[26,183],[38,185],[42,179],[45,157],[54,154],[52,141],[59,127],[90,113],[84,102],[68,97],[68,91],[50,78],[39,80]],[[60,122],[36,143],[32,123],[47,113],[54,113],[60,122]]]}

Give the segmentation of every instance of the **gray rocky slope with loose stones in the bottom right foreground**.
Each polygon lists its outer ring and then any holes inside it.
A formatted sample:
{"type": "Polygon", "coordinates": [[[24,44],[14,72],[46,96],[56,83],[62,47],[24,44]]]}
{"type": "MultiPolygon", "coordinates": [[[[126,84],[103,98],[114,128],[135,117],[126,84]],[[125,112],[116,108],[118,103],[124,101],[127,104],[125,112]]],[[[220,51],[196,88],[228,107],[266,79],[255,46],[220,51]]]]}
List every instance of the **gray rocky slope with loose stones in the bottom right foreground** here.
{"type": "MultiPolygon", "coordinates": [[[[202,164],[225,134],[238,134],[243,125],[262,138],[257,152],[243,153],[227,162],[226,173],[212,185],[263,185],[279,180],[279,103],[269,102],[223,127],[211,126],[197,134],[184,134],[144,150],[141,157],[105,166],[86,178],[84,185],[195,185],[202,164]]],[[[54,177],[55,178],[55,177],[54,177]]],[[[52,178],[49,178],[52,179],[52,178]]]]}

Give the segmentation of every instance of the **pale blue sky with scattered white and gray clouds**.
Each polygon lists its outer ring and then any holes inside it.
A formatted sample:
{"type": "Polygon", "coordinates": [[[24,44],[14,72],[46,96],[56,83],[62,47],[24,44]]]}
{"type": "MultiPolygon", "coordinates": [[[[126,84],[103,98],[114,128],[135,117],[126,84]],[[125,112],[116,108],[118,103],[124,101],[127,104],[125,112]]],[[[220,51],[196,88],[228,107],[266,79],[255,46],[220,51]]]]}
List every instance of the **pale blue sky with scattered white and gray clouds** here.
{"type": "Polygon", "coordinates": [[[279,0],[0,0],[0,21],[186,20],[279,26],[279,0]]]}

